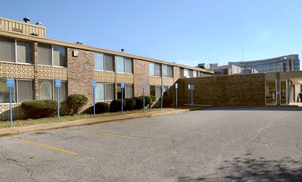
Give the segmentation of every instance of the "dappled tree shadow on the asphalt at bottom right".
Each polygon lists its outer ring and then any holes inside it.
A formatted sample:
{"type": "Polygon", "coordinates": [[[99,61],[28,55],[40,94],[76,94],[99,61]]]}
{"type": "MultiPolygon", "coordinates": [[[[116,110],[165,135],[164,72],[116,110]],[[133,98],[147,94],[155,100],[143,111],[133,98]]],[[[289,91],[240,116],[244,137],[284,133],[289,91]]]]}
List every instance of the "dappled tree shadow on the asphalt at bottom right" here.
{"type": "Polygon", "coordinates": [[[179,181],[302,181],[302,162],[284,157],[281,160],[255,158],[251,154],[225,160],[215,171],[217,177],[179,177],[179,181]]]}

